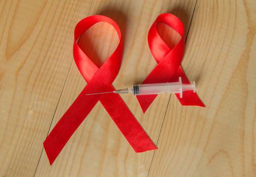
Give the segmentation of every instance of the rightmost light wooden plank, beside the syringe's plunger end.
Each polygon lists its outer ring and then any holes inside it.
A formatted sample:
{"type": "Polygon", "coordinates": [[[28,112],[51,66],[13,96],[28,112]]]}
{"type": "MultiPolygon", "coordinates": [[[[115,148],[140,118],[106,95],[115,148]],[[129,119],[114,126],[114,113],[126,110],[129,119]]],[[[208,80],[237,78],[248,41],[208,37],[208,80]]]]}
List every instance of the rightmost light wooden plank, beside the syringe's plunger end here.
{"type": "Polygon", "coordinates": [[[182,63],[206,108],[171,96],[149,176],[256,176],[255,1],[198,0],[182,63]]]}

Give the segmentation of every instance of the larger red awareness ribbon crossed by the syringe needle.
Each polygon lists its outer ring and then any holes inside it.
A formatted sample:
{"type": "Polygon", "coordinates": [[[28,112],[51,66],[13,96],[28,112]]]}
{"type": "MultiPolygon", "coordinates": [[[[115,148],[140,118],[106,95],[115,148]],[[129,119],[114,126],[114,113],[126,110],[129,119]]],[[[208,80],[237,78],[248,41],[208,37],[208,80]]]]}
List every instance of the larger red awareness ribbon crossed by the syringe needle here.
{"type": "Polygon", "coordinates": [[[90,16],[77,24],[74,33],[74,59],[87,85],[57,122],[44,142],[50,164],[52,165],[69,138],[98,101],[117,124],[135,152],[157,149],[118,94],[86,95],[97,92],[113,92],[115,90],[112,83],[119,72],[123,55],[121,31],[116,22],[101,15],[90,16]],[[100,68],[86,56],[77,44],[79,37],[98,22],[111,24],[116,29],[120,40],[116,50],[100,68]]]}

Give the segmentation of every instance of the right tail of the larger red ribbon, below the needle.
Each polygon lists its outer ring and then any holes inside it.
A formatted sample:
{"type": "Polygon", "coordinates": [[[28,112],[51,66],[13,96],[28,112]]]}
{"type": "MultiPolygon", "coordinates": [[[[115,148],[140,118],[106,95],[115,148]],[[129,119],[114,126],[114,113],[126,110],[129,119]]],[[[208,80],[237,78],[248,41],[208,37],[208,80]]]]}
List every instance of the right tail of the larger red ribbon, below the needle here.
{"type": "Polygon", "coordinates": [[[100,102],[135,152],[157,149],[118,94],[106,94],[100,102]]]}

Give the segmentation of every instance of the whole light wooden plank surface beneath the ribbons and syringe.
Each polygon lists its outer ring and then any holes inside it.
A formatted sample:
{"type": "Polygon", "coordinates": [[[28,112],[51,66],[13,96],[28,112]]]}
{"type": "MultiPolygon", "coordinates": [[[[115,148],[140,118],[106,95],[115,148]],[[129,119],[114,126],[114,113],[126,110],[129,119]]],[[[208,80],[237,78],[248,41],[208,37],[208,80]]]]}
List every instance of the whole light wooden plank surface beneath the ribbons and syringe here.
{"type": "MultiPolygon", "coordinates": [[[[0,14],[0,176],[256,176],[254,0],[6,0],[0,14]],[[97,103],[50,166],[43,141],[86,85],[72,57],[77,22],[101,14],[119,24],[125,48],[114,86],[122,88],[156,66],[147,35],[164,12],[184,23],[182,67],[207,107],[159,95],[143,114],[123,95],[159,148],[135,153],[97,103]]],[[[169,43],[171,33],[163,31],[169,43]]],[[[117,43],[99,23],[80,46],[100,64],[117,43]]]]}

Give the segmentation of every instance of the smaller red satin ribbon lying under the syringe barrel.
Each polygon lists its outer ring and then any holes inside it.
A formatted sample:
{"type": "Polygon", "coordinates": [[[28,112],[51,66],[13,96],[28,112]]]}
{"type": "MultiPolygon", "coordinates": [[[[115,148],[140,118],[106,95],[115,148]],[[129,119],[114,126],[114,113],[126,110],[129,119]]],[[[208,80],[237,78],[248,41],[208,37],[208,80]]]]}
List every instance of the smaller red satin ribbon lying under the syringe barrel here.
{"type": "MultiPolygon", "coordinates": [[[[184,28],[182,22],[174,15],[164,13],[157,17],[149,30],[148,42],[152,55],[158,65],[145,78],[144,83],[164,83],[178,81],[181,77],[182,83],[190,83],[185,72],[180,66],[185,52],[184,28]],[[157,31],[157,23],[164,23],[174,29],[181,36],[177,45],[170,49],[164,40],[160,37],[157,31]]],[[[175,94],[182,106],[202,106],[205,107],[196,93],[186,91],[182,93],[182,98],[179,94],[175,94]]],[[[137,96],[137,100],[145,112],[155,100],[157,95],[137,96]]]]}

